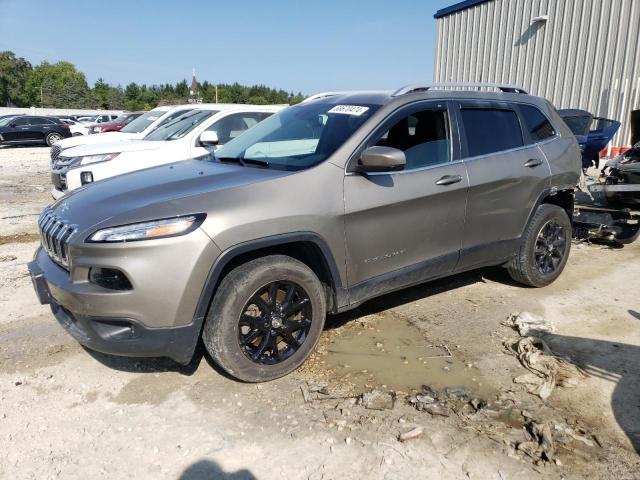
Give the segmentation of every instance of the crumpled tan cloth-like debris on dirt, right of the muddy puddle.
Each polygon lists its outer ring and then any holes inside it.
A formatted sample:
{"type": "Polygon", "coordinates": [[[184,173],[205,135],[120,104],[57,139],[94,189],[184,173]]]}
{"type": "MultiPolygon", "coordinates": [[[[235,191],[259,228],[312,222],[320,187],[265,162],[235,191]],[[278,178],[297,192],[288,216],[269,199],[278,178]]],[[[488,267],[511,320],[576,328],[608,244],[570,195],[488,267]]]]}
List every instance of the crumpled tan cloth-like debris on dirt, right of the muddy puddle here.
{"type": "Polygon", "coordinates": [[[589,376],[570,361],[556,356],[541,338],[521,338],[515,345],[507,345],[507,348],[531,372],[513,381],[528,385],[529,393],[543,400],[549,398],[556,386],[575,387],[581,379],[589,376]]]}

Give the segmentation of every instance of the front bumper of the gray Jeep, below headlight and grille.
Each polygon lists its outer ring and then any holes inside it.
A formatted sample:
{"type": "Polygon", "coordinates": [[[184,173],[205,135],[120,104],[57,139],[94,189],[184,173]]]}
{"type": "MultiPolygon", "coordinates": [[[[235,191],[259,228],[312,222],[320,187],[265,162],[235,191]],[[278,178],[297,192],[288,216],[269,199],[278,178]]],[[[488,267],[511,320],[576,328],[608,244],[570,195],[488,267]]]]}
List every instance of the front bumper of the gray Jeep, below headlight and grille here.
{"type": "Polygon", "coordinates": [[[76,265],[72,264],[70,272],[55,264],[40,248],[28,265],[38,300],[51,307],[57,321],[71,336],[92,350],[131,357],[169,357],[186,364],[193,356],[200,333],[201,321],[194,318],[204,284],[204,278],[200,277],[206,278],[207,273],[202,272],[210,267],[209,264],[202,268],[198,263],[205,263],[203,257],[212,261],[219,250],[201,230],[166,240],[171,242],[165,242],[164,249],[157,243],[162,240],[144,242],[153,242],[147,252],[133,244],[129,252],[124,252],[122,245],[98,246],[93,258],[86,251],[84,256],[74,258],[76,265]],[[201,247],[200,255],[191,259],[183,253],[182,275],[170,261],[179,238],[189,238],[183,242],[187,251],[190,247],[197,251],[196,245],[201,247]],[[158,248],[163,255],[158,256],[158,248]],[[136,258],[132,261],[131,257],[136,258]],[[85,260],[125,271],[134,288],[115,291],[88,282],[82,278],[83,272],[88,271],[85,260]],[[151,296],[155,296],[155,301],[150,301],[151,296]]]}

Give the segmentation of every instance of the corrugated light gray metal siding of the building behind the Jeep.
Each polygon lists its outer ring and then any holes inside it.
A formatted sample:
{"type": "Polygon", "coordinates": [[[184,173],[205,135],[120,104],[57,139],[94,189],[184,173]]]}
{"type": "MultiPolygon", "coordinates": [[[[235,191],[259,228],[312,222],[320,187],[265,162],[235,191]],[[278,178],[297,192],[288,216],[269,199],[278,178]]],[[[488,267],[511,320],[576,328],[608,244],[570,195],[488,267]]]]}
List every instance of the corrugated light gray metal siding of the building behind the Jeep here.
{"type": "Polygon", "coordinates": [[[640,0],[491,0],[437,19],[434,80],[513,83],[557,108],[640,109],[640,0]],[[547,14],[542,25],[533,17],[547,14]]]}

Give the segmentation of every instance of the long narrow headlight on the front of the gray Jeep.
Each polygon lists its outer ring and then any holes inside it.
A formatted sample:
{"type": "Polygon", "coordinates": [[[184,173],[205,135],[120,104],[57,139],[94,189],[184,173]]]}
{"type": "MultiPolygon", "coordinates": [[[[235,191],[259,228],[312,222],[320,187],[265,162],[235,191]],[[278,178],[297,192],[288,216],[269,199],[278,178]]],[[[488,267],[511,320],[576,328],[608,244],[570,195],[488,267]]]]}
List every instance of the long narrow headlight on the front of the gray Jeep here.
{"type": "Polygon", "coordinates": [[[201,213],[104,228],[92,234],[87,241],[92,243],[133,242],[136,240],[151,240],[153,238],[177,237],[194,231],[202,224],[205,216],[201,213]]]}

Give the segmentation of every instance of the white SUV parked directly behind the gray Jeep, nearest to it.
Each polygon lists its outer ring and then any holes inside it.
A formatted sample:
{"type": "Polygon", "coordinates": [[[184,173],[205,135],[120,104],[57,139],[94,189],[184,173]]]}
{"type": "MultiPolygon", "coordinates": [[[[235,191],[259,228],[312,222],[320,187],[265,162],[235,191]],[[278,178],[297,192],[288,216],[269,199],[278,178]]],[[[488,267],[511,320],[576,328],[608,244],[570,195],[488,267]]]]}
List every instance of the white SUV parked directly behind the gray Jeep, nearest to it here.
{"type": "Polygon", "coordinates": [[[217,146],[284,107],[195,104],[141,140],[68,148],[52,162],[51,193],[57,199],[105,178],[180,160],[206,158],[217,146]]]}

